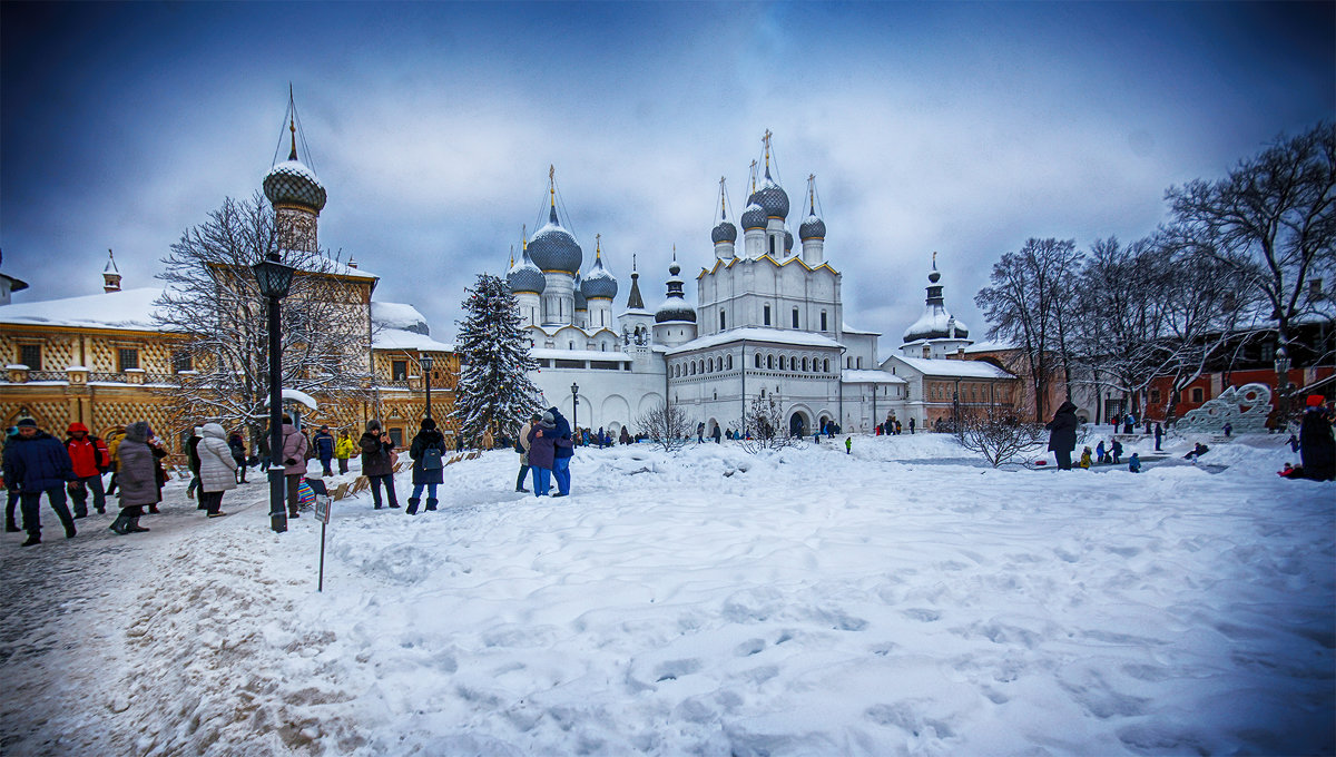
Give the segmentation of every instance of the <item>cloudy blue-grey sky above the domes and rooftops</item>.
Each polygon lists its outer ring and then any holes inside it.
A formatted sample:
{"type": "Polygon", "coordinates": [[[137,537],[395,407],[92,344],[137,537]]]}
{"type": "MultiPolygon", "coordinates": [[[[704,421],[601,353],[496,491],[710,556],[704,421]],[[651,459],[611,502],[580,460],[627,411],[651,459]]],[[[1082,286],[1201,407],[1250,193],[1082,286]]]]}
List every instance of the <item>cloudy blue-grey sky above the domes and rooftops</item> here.
{"type": "MultiPolygon", "coordinates": [[[[16,302],[124,286],[286,135],[289,83],[329,192],[321,244],[378,274],[453,339],[464,287],[545,220],[548,166],[625,304],[653,308],[676,244],[712,259],[774,132],[802,222],[808,174],[844,274],[846,322],[884,356],[1030,236],[1150,232],[1164,191],[1220,178],[1336,112],[1336,4],[0,5],[0,246],[16,302]]],[[[695,286],[688,283],[695,300],[695,286]]]]}

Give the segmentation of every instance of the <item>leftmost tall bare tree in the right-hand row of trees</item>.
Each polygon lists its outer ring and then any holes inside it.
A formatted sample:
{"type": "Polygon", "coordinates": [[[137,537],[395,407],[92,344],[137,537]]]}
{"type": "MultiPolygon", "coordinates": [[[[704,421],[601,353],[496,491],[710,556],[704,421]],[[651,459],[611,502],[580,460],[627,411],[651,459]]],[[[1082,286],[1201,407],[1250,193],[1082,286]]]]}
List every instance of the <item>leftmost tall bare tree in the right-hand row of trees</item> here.
{"type": "Polygon", "coordinates": [[[1007,252],[993,266],[991,286],[979,290],[974,303],[993,326],[989,339],[1006,339],[1021,348],[1034,390],[1035,419],[1045,417],[1043,398],[1058,370],[1065,371],[1071,391],[1074,344],[1071,324],[1073,284],[1079,275],[1081,254],[1066,239],[1029,239],[1017,252],[1007,252]]]}

